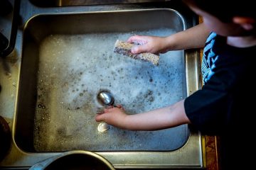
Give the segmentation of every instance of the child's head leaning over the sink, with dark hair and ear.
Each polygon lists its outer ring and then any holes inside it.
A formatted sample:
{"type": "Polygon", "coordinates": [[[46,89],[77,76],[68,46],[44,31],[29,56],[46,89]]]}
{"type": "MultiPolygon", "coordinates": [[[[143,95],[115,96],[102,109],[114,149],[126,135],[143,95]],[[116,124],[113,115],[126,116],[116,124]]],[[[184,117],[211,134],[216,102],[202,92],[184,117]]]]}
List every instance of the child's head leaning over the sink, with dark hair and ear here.
{"type": "Polygon", "coordinates": [[[256,35],[256,9],[252,0],[183,0],[220,35],[256,35]]]}

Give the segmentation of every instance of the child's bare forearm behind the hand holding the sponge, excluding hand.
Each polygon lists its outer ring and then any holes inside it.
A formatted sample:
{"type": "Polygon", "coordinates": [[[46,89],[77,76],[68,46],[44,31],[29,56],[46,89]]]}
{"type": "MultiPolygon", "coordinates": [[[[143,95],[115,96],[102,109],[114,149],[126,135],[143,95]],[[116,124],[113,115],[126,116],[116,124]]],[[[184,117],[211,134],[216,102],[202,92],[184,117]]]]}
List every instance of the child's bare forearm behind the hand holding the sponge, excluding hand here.
{"type": "Polygon", "coordinates": [[[205,24],[201,23],[198,26],[166,37],[166,45],[169,45],[167,49],[185,50],[204,47],[209,33],[210,31],[205,24]]]}

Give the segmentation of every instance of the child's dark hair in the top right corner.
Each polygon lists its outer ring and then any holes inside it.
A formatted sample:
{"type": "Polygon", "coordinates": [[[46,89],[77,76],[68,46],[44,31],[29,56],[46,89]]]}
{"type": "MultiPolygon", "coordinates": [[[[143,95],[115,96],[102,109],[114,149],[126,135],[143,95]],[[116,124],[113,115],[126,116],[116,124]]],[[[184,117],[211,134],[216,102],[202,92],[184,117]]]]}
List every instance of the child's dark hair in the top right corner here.
{"type": "Polygon", "coordinates": [[[223,22],[230,22],[234,16],[256,18],[256,6],[253,0],[184,0],[201,10],[210,13],[223,22]]]}

